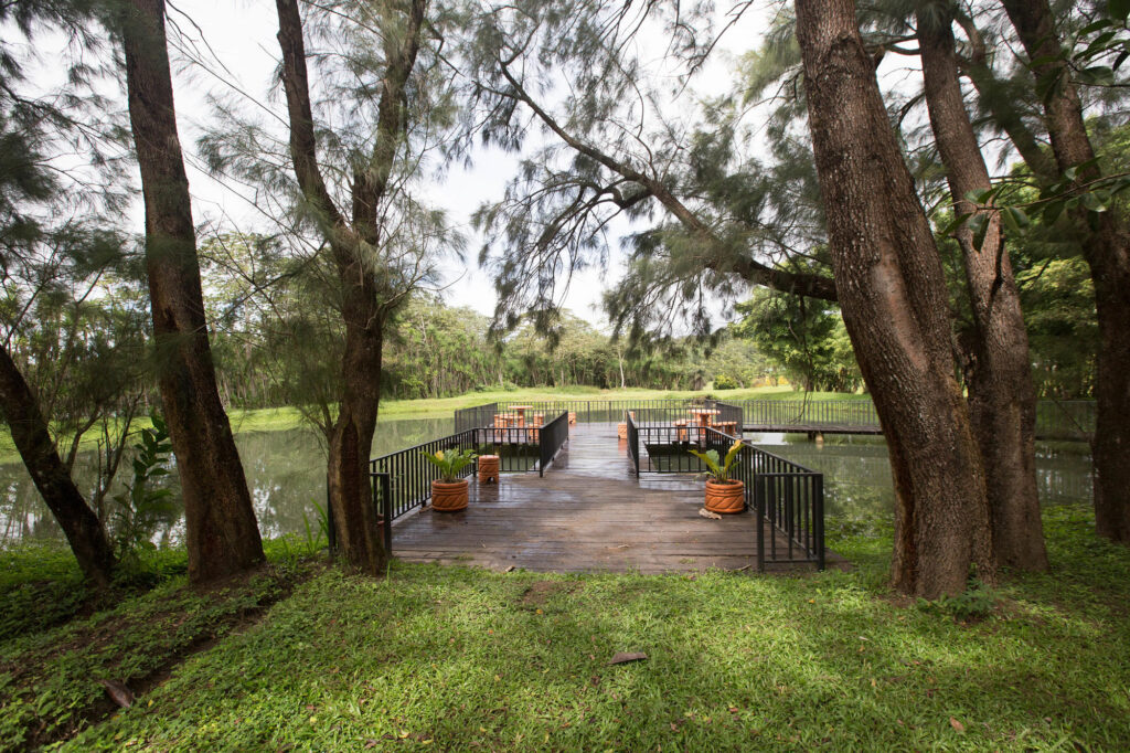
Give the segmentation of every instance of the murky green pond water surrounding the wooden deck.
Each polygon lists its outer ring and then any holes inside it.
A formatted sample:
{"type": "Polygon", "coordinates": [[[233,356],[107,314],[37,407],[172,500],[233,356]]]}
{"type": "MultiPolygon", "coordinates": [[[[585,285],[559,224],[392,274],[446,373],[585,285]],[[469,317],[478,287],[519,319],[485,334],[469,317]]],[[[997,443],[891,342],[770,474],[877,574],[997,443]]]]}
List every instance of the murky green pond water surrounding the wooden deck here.
{"type": "MultiPolygon", "coordinates": [[[[373,451],[393,452],[452,431],[451,418],[382,422],[373,451]]],[[[747,434],[746,439],[823,473],[829,516],[866,518],[892,509],[890,469],[881,439],[829,435],[823,447],[803,434],[747,434]]],[[[306,520],[316,525],[315,503],[325,502],[325,450],[319,436],[311,430],[241,432],[236,443],[263,535],[301,534],[306,520]]],[[[94,460],[93,453],[84,453],[76,464],[75,476],[85,492],[93,484],[94,460]]],[[[1090,455],[1086,444],[1041,442],[1036,467],[1044,504],[1090,503],[1090,455]]],[[[119,481],[127,475],[120,474],[119,481]]],[[[167,483],[177,494],[175,473],[169,474],[167,483]]],[[[154,542],[172,544],[182,535],[183,521],[174,513],[154,531],[154,542]]],[[[62,533],[23,464],[0,464],[0,546],[20,540],[61,542],[62,533]]]]}

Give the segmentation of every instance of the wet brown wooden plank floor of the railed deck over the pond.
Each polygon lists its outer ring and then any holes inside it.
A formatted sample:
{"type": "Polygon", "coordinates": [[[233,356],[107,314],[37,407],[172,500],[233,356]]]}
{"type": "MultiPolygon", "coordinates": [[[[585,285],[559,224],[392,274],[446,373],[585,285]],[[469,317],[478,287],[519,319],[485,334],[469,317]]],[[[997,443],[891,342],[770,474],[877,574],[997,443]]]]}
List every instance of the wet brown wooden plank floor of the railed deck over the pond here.
{"type": "MultiPolygon", "coordinates": [[[[699,517],[699,478],[636,479],[626,445],[614,424],[571,426],[545,477],[503,474],[499,484],[486,486],[472,479],[466,511],[428,507],[398,520],[393,554],[408,562],[540,572],[757,570],[756,516],[699,517]]],[[[779,537],[777,545],[785,542],[779,537]]]]}

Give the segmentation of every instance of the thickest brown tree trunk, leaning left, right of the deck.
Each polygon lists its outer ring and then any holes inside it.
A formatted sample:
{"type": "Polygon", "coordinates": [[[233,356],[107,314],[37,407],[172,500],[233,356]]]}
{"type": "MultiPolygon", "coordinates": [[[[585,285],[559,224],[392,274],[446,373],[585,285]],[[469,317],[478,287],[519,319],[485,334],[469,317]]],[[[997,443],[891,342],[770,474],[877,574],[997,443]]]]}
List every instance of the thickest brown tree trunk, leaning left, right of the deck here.
{"type": "Polygon", "coordinates": [[[809,129],[836,289],[890,452],[892,578],[906,594],[992,579],[989,505],[955,379],[948,295],[851,0],[798,0],[809,129]]]}

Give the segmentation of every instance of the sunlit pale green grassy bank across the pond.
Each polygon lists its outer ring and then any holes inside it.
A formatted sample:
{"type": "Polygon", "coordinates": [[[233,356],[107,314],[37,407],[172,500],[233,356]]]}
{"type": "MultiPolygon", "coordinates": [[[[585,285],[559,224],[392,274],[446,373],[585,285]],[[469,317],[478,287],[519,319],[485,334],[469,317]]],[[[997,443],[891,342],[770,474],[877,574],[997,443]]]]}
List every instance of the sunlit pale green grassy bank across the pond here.
{"type": "MultiPolygon", "coordinates": [[[[790,387],[763,387],[747,390],[698,390],[698,391],[664,391],[664,390],[600,390],[594,387],[579,387],[557,390],[551,388],[528,388],[520,390],[494,390],[488,392],[468,392],[452,398],[428,398],[424,400],[384,400],[381,403],[382,421],[400,421],[405,418],[446,418],[459,408],[469,408],[486,403],[529,403],[531,400],[662,400],[701,397],[712,395],[731,400],[790,400],[801,399],[802,395],[790,387]]],[[[843,392],[812,392],[812,400],[855,400],[867,399],[863,395],[846,395],[843,392]]],[[[304,425],[302,414],[296,408],[263,408],[260,410],[229,410],[228,417],[235,432],[272,432],[297,429],[304,425]]],[[[140,431],[150,425],[148,418],[140,418],[133,425],[140,431]]],[[[95,436],[82,442],[85,449],[94,449],[95,436]]],[[[0,426],[0,462],[19,462],[19,453],[12,444],[11,434],[6,426],[0,426]]]]}

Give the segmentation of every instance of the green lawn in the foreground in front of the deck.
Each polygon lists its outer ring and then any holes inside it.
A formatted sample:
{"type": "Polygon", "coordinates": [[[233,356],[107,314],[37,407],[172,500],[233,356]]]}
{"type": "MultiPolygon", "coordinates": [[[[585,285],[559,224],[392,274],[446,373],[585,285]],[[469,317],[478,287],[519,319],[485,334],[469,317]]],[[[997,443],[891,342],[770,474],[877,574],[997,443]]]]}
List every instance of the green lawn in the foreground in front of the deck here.
{"type": "Polygon", "coordinates": [[[0,643],[0,746],[82,727],[63,750],[1130,750],[1130,553],[1085,508],[1045,525],[1055,572],[977,617],[889,594],[881,525],[829,521],[857,569],[791,577],[373,580],[275,547],[228,591],[174,575],[0,643]],[[103,678],[146,692],[110,715],[103,678]]]}

